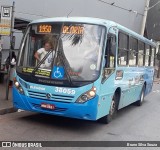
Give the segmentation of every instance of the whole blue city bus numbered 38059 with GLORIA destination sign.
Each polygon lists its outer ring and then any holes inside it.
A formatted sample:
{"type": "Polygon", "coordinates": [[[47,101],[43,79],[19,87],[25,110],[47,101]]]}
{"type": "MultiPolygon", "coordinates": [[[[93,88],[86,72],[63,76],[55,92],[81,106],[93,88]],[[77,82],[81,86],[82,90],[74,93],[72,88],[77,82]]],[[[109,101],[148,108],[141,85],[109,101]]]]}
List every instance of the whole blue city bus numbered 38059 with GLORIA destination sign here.
{"type": "Polygon", "coordinates": [[[109,123],[119,109],[141,106],[151,92],[155,55],[155,43],[112,21],[33,21],[20,46],[14,107],[109,123]],[[48,41],[51,48],[38,61],[35,53],[48,41]]]}

